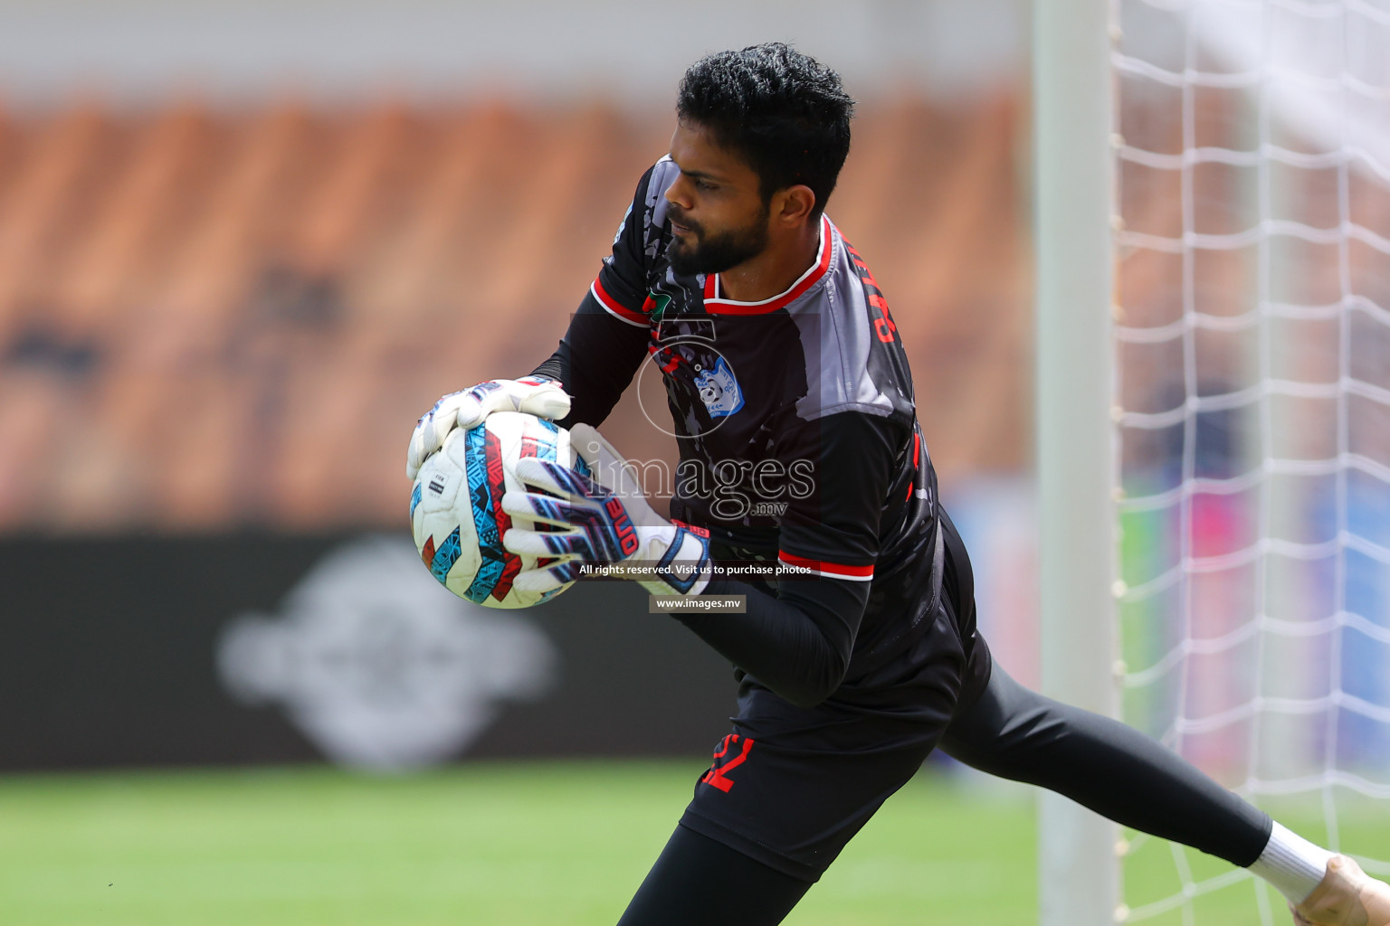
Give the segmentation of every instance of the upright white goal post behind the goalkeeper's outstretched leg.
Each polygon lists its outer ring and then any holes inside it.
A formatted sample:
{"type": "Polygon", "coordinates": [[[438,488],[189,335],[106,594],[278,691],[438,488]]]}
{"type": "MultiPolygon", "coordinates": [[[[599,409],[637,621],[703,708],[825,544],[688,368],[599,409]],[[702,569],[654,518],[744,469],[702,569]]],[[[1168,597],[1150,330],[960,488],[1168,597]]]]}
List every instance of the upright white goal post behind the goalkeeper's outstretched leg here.
{"type": "MultiPolygon", "coordinates": [[[[1042,690],[1115,716],[1109,0],[1033,6],[1042,690]]],[[[1042,926],[1111,926],[1118,827],[1038,797],[1042,926]]]]}

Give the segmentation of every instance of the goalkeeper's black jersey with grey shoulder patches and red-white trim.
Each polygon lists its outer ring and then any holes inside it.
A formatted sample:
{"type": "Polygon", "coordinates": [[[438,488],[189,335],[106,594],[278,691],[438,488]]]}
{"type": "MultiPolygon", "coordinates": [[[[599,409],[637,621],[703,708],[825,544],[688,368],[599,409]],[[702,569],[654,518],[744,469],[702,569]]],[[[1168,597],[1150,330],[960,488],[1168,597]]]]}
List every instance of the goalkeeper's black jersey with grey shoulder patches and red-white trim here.
{"type": "Polygon", "coordinates": [[[810,578],[712,582],[746,615],[682,615],[735,666],[794,704],[863,700],[912,672],[941,583],[935,473],[888,304],[826,217],[816,262],[760,303],[719,275],[676,273],[669,157],[632,205],[559,350],[535,372],[574,397],[560,422],[599,425],[644,362],[659,369],[680,444],[674,519],[716,561],[810,578]],[[762,594],[759,594],[762,593],[762,594]]]}

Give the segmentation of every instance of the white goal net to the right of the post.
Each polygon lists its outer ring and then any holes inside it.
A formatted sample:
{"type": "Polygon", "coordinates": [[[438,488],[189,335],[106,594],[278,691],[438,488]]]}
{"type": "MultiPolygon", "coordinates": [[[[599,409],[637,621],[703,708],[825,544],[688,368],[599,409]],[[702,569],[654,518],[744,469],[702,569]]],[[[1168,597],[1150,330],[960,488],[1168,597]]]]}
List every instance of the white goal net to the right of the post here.
{"type": "MultiPolygon", "coordinates": [[[[1390,0],[1112,24],[1125,719],[1386,875],[1390,0]]],[[[1120,918],[1289,922],[1129,836],[1120,918]]]]}

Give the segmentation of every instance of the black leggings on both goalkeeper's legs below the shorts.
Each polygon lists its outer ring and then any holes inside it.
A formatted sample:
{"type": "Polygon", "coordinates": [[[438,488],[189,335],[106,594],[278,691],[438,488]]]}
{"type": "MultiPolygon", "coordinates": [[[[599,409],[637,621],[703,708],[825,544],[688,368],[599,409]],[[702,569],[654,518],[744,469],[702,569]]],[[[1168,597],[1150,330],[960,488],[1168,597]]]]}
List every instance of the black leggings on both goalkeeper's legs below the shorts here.
{"type": "MultiPolygon", "coordinates": [[[[1063,794],[1125,826],[1245,868],[1269,841],[1269,816],[1138,730],[1045,698],[997,664],[980,698],[940,747],[990,775],[1063,794]]],[[[719,914],[780,923],[810,883],[678,826],[619,926],[698,926],[719,914]]]]}

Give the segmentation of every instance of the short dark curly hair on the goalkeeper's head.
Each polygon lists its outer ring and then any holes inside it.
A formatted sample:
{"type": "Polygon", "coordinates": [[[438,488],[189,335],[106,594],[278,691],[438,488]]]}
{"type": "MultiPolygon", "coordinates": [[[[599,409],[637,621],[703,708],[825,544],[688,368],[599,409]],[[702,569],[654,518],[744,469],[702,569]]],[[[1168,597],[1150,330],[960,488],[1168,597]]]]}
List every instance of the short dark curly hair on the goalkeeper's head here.
{"type": "Polygon", "coordinates": [[[763,201],[803,183],[826,208],[849,155],[855,101],[840,75],[781,42],[708,54],[681,78],[676,115],[709,129],[758,174],[763,201]]]}

